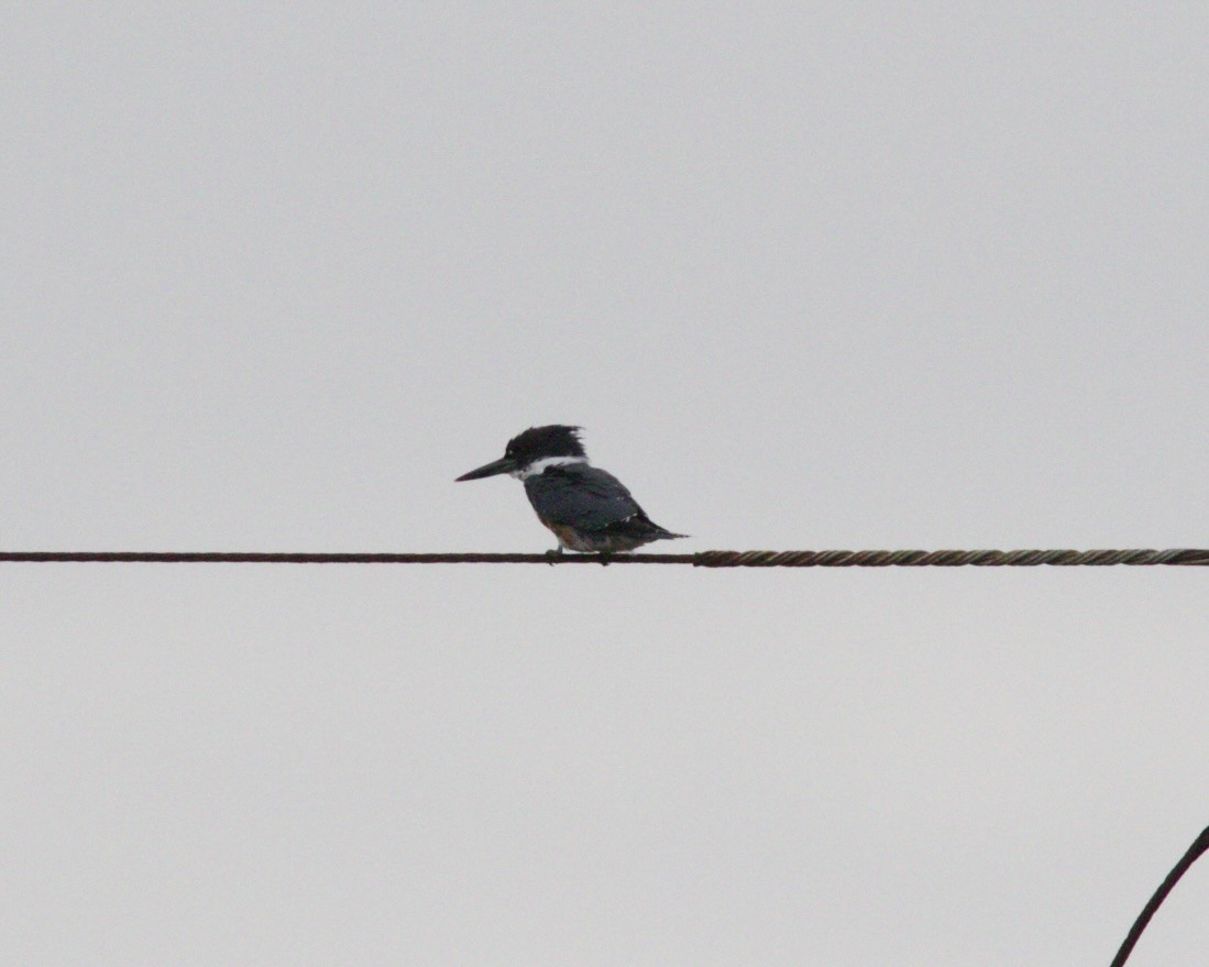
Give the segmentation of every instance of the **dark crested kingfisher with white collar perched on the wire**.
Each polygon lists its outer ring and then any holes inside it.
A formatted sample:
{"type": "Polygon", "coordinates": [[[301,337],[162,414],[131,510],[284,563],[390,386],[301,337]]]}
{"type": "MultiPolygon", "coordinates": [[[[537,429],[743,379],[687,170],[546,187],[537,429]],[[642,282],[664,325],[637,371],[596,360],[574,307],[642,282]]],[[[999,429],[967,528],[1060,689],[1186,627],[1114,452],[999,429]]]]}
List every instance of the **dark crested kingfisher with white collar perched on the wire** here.
{"type": "Polygon", "coordinates": [[[462,474],[480,480],[510,474],[542,521],[559,538],[559,546],[585,554],[632,551],[652,540],[688,537],[654,523],[615,476],[588,463],[579,427],[531,427],[508,441],[502,459],[462,474]]]}

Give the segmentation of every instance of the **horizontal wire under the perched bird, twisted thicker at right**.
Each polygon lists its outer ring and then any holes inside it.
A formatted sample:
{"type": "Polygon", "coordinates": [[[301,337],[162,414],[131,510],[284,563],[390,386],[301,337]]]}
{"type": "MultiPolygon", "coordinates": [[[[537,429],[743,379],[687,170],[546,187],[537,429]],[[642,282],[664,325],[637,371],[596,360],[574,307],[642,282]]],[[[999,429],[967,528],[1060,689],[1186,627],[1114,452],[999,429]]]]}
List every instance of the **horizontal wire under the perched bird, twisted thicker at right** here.
{"type": "Polygon", "coordinates": [[[1209,567],[1209,550],[700,551],[699,554],[293,554],[251,551],[0,551],[10,563],[692,564],[693,567],[1209,567]]]}

